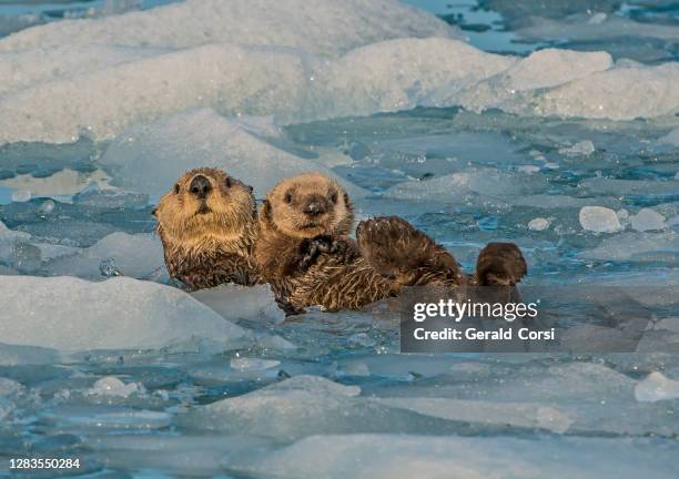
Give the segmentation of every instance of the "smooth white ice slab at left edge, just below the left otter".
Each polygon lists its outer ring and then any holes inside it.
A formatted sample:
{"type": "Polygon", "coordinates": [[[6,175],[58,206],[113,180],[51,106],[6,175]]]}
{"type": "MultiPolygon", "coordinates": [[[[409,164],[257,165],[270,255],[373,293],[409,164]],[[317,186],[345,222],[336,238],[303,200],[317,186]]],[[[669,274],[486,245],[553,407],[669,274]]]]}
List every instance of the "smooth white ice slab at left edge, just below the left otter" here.
{"type": "Polygon", "coordinates": [[[0,276],[4,343],[62,350],[160,348],[189,340],[222,349],[245,332],[188,294],[151,282],[115,277],[0,276]]]}

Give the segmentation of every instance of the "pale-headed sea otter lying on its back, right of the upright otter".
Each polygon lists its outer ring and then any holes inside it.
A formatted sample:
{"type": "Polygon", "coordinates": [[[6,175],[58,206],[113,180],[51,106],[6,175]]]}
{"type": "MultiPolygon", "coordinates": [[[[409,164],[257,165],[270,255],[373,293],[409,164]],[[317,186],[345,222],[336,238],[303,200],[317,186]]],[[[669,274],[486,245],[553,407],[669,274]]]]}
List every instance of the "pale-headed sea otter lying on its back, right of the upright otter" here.
{"type": "Polygon", "coordinates": [[[464,282],[455,258],[407,222],[393,220],[405,230],[398,238],[388,236],[388,221],[364,222],[354,242],[347,236],[353,217],[342,186],[318,173],[284,180],[268,192],[255,258],[288,314],[315,305],[357,309],[396,296],[404,286],[464,282]],[[373,262],[386,265],[381,252],[389,248],[399,267],[379,271],[373,262]]]}

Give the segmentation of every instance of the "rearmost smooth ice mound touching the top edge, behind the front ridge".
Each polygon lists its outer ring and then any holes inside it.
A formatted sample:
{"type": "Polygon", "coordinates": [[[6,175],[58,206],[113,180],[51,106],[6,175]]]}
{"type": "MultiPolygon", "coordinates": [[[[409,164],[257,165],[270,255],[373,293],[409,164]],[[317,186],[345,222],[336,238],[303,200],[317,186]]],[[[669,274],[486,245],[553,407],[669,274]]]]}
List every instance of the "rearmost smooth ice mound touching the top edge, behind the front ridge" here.
{"type": "Polygon", "coordinates": [[[1,40],[0,51],[93,42],[172,49],[219,42],[337,54],[381,40],[432,35],[457,33],[433,14],[395,0],[190,0],[24,30],[1,40]]]}

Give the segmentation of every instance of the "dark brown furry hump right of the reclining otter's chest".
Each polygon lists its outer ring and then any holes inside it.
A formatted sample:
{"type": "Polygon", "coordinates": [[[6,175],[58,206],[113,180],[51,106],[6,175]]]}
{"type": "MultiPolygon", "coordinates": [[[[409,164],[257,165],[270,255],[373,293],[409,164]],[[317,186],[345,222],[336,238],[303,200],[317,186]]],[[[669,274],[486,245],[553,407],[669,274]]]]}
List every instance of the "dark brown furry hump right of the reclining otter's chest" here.
{"type": "Polygon", "coordinates": [[[423,232],[398,216],[363,221],[356,228],[358,248],[382,276],[404,286],[460,284],[455,258],[423,232]]]}

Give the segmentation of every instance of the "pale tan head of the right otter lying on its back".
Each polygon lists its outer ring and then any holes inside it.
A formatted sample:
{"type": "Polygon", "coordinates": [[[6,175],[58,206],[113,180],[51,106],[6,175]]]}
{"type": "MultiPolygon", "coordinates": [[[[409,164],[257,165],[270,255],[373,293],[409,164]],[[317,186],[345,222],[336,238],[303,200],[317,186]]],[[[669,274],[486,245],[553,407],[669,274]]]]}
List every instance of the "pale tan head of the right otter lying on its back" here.
{"type": "Polygon", "coordinates": [[[348,234],[354,220],[348,195],[320,173],[283,180],[266,195],[262,222],[295,238],[348,234]]]}

